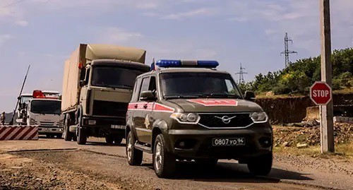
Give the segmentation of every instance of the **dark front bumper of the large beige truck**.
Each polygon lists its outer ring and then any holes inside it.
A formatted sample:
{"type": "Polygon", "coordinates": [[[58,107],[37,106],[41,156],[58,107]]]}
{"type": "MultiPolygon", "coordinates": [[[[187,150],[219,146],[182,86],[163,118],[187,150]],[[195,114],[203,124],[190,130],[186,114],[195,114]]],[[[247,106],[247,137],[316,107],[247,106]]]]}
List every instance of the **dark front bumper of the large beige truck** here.
{"type": "Polygon", "coordinates": [[[88,136],[105,137],[109,134],[125,135],[125,118],[83,117],[82,124],[83,129],[88,132],[88,136]],[[95,124],[90,124],[89,121],[93,120],[95,124]]]}

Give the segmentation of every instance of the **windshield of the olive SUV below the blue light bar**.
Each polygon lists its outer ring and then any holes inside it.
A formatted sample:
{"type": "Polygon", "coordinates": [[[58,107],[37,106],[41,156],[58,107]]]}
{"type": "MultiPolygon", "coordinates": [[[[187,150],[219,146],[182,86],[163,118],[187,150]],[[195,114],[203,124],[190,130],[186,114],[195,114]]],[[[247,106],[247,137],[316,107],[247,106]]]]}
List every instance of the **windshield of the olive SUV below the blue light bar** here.
{"type": "Polygon", "coordinates": [[[226,73],[162,73],[160,78],[164,98],[241,98],[232,76],[226,73]]]}

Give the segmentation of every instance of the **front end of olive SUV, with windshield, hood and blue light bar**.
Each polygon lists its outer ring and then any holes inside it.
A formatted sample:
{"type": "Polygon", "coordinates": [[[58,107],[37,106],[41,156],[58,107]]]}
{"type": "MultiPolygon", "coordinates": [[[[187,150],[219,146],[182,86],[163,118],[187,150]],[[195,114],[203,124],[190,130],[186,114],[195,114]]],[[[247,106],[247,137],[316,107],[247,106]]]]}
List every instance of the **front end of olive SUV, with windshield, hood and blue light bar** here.
{"type": "Polygon", "coordinates": [[[205,62],[206,66],[199,66],[203,62],[196,61],[196,66],[187,62],[183,68],[170,62],[157,62],[168,68],[155,71],[159,106],[154,107],[153,117],[159,123],[155,127],[164,127],[160,130],[162,143],[152,136],[151,144],[155,169],[166,170],[156,171],[157,175],[171,173],[168,170],[174,169],[170,165],[176,159],[208,165],[219,159],[235,159],[248,164],[253,174],[268,174],[273,131],[268,116],[253,102],[253,93],[243,97],[232,76],[215,70],[213,62],[205,62]],[[169,112],[159,112],[160,108],[169,112]],[[164,160],[169,158],[168,163],[158,162],[161,151],[164,160]]]}

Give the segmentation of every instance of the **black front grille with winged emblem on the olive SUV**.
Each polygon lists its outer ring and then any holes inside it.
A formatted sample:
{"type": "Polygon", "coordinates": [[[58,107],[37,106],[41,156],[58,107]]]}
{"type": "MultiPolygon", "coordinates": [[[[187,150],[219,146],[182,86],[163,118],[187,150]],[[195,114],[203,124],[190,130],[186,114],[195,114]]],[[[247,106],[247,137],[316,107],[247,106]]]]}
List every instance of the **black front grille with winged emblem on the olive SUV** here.
{"type": "Polygon", "coordinates": [[[228,113],[228,114],[200,114],[199,124],[206,126],[208,128],[228,128],[228,127],[246,127],[253,123],[249,114],[246,113],[228,113]],[[233,118],[234,117],[234,118],[233,118]],[[229,119],[229,123],[223,122],[223,119],[229,119]]]}

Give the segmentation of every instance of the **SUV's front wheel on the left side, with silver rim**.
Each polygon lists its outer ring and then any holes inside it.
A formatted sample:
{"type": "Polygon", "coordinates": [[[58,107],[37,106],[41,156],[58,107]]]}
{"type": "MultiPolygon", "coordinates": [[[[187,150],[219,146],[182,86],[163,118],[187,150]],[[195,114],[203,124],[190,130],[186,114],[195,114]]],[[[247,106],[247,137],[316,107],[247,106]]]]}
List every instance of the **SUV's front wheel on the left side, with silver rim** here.
{"type": "Polygon", "coordinates": [[[162,134],[159,134],[155,140],[152,160],[157,177],[169,178],[174,175],[176,170],[175,156],[167,151],[167,146],[162,134]]]}

